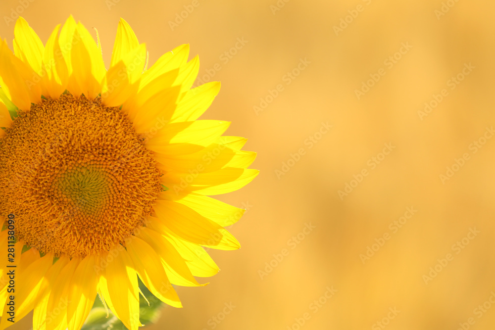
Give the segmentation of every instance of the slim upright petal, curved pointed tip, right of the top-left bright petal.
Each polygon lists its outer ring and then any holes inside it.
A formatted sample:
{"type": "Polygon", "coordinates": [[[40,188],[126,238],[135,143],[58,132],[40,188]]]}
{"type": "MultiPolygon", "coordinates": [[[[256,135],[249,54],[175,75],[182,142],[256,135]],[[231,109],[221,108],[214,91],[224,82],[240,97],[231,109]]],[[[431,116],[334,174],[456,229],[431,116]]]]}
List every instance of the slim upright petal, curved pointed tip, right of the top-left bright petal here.
{"type": "Polygon", "coordinates": [[[49,96],[55,99],[67,89],[69,78],[64,56],[61,55],[62,52],[58,39],[59,29],[60,24],[51,33],[45,47],[45,53],[43,54],[43,70],[45,72],[43,81],[49,96]]]}

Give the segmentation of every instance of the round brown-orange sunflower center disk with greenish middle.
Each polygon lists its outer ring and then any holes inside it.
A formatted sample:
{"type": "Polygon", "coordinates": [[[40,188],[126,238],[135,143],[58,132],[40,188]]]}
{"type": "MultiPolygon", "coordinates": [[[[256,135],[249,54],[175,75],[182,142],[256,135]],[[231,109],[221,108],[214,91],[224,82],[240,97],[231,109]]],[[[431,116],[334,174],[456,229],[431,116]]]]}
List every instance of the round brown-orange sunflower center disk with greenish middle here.
{"type": "Polygon", "coordinates": [[[160,175],[118,108],[62,95],[20,112],[0,139],[0,214],[17,215],[27,244],[84,257],[143,225],[160,175]]]}

